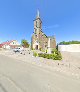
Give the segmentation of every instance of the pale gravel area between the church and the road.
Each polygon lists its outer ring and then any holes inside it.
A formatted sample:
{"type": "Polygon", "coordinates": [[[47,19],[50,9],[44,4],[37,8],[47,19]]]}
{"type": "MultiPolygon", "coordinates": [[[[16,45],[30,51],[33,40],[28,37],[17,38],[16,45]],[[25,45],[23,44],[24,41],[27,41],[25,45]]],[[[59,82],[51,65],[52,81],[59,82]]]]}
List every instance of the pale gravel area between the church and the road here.
{"type": "Polygon", "coordinates": [[[12,50],[1,50],[0,54],[6,55],[20,61],[35,64],[37,66],[57,71],[74,78],[80,78],[80,53],[61,52],[63,60],[51,60],[42,57],[34,57],[33,51],[24,50],[22,54],[14,53],[12,50]],[[30,54],[29,54],[30,52],[30,54]]]}

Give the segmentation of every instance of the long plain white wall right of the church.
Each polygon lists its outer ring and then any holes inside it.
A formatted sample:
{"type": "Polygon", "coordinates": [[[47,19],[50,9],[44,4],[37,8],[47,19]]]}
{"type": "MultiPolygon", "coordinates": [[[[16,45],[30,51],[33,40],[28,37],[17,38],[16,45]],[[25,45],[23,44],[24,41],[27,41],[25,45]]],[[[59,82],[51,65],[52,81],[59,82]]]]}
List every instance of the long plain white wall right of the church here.
{"type": "Polygon", "coordinates": [[[58,45],[59,51],[80,52],[80,44],[58,45]]]}

